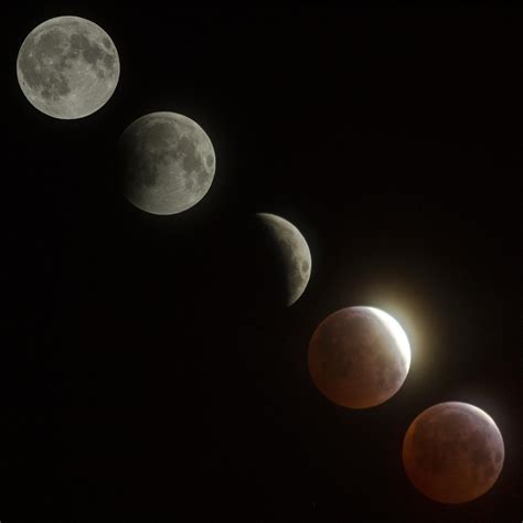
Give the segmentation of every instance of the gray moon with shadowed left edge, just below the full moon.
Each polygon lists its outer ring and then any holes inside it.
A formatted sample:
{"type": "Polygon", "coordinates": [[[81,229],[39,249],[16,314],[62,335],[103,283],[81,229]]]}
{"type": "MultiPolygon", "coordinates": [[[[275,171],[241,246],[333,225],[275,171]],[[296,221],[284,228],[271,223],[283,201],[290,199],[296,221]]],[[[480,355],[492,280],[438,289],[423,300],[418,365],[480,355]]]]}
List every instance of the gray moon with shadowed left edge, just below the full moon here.
{"type": "Polygon", "coordinates": [[[214,179],[216,158],[205,131],[175,113],[135,120],[119,140],[122,189],[138,209],[177,214],[195,205],[214,179]]]}

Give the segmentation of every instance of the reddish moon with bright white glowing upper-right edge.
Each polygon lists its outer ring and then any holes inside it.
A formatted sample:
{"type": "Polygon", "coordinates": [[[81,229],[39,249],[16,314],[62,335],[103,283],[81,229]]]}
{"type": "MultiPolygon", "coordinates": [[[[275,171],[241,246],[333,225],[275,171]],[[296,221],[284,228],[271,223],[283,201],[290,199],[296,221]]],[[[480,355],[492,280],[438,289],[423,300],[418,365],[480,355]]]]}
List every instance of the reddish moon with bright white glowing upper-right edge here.
{"type": "Polygon", "coordinates": [[[348,307],[325,318],[309,343],[309,372],[331,402],[350,408],[378,405],[403,385],[410,346],[399,323],[373,307],[348,307]]]}

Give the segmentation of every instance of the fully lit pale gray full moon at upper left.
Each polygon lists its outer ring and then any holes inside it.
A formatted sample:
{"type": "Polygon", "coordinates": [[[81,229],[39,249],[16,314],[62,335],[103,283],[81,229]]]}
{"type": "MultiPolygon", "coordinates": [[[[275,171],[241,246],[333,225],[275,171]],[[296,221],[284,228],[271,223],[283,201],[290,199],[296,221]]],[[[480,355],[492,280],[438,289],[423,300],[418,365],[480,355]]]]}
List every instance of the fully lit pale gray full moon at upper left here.
{"type": "Polygon", "coordinates": [[[120,63],[109,35],[78,17],[57,17],[34,28],[17,61],[20,87],[42,113],[83,118],[103,107],[118,84],[120,63]]]}

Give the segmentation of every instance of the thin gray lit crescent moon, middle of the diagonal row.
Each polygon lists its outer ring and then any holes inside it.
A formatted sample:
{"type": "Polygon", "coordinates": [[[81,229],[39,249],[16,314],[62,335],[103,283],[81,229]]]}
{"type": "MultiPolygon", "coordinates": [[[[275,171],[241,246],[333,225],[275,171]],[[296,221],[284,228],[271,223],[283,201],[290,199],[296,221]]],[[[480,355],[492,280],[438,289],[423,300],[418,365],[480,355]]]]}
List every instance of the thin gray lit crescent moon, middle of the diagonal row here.
{"type": "Polygon", "coordinates": [[[312,268],[312,259],[306,238],[287,220],[268,213],[256,216],[267,227],[285,264],[287,285],[287,307],[295,303],[307,288],[312,268]]]}

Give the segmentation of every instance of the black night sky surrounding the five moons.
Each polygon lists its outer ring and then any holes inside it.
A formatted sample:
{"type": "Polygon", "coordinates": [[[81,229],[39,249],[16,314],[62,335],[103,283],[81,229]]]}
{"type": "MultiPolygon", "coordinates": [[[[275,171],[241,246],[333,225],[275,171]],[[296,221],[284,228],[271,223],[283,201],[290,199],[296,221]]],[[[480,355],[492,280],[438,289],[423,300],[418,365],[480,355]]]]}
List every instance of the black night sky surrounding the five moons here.
{"type": "Polygon", "coordinates": [[[523,11],[186,3],[7,8],[0,519],[521,521],[523,11]],[[85,119],[39,113],[17,81],[25,35],[61,14],[120,55],[85,119]],[[156,110],[216,150],[210,192],[173,216],[118,188],[118,137],[156,110]],[[312,254],[305,295],[266,316],[242,285],[253,212],[312,254]],[[366,410],[307,371],[318,323],[354,305],[395,316],[413,351],[366,410]],[[463,505],[424,498],[401,461],[444,401],[483,408],[505,444],[493,489],[463,505]]]}

